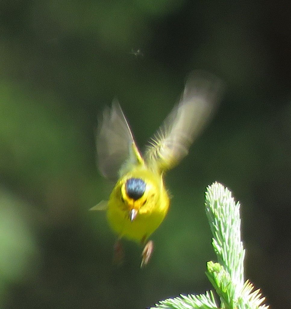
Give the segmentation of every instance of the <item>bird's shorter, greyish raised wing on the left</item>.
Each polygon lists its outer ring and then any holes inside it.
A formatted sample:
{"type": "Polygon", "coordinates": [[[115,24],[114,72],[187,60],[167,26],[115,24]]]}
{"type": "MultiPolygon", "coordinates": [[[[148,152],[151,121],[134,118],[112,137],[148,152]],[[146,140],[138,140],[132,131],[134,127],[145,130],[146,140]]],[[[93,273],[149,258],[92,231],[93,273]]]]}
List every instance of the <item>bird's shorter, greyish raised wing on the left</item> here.
{"type": "Polygon", "coordinates": [[[116,181],[132,165],[143,163],[118,101],[107,107],[97,132],[98,167],[103,176],[116,181]]]}

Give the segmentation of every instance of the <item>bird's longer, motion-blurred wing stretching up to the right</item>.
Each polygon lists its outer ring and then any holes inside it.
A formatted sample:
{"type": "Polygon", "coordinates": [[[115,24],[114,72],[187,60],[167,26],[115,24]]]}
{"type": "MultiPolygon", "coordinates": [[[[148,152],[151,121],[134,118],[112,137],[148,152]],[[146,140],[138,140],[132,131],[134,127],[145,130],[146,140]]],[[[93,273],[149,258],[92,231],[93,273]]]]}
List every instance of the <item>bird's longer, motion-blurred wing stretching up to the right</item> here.
{"type": "Polygon", "coordinates": [[[180,102],[146,148],[148,165],[164,171],[183,159],[217,106],[221,92],[222,83],[219,78],[204,71],[192,72],[180,102]]]}

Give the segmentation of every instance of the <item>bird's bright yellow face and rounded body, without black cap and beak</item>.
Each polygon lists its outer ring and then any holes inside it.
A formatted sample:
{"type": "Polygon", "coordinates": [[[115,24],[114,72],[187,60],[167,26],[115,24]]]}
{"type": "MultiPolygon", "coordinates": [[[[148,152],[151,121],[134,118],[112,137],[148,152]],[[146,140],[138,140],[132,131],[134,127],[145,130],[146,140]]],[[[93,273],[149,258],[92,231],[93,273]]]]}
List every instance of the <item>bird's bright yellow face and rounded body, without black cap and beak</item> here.
{"type": "Polygon", "coordinates": [[[108,222],[120,238],[144,241],[162,223],[169,203],[162,175],[141,165],[118,180],[108,201],[108,222]],[[141,180],[145,184],[144,193],[137,199],[131,198],[126,191],[126,183],[130,179],[141,180]],[[132,210],[136,211],[134,220],[130,218],[132,210]]]}

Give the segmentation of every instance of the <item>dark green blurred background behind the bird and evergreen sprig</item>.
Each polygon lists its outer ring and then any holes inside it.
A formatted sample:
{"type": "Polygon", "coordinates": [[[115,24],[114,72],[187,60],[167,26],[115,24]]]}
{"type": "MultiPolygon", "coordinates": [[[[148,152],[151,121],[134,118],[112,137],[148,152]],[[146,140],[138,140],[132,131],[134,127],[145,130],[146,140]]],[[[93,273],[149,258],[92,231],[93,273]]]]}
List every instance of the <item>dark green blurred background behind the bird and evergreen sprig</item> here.
{"type": "Polygon", "coordinates": [[[241,201],[245,275],[291,306],[291,6],[288,1],[2,1],[0,307],[145,308],[211,288],[204,213],[217,180],[241,201]],[[141,49],[142,55],[131,51],[141,49]],[[117,96],[140,148],[193,69],[221,106],[166,177],[171,208],[150,264],[88,209],[112,184],[95,165],[97,117],[117,96]]]}

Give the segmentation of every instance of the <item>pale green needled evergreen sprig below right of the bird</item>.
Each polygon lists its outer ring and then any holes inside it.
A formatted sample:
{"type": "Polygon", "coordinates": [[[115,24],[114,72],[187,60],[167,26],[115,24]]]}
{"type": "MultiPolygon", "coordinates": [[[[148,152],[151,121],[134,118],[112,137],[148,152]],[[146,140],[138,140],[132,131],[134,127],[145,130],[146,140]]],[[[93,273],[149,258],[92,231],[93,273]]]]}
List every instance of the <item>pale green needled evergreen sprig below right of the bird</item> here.
{"type": "Polygon", "coordinates": [[[239,202],[235,203],[230,190],[222,184],[214,182],[207,187],[205,211],[217,263],[207,263],[206,276],[219,296],[219,306],[210,290],[200,295],[168,298],[150,309],[268,309],[260,290],[254,291],[252,283],[244,280],[245,250],[240,235],[239,208],[239,202]]]}

